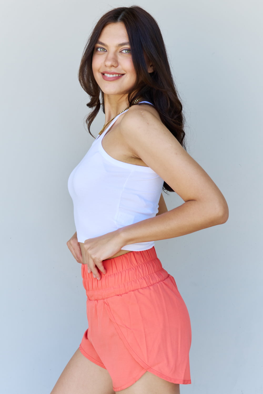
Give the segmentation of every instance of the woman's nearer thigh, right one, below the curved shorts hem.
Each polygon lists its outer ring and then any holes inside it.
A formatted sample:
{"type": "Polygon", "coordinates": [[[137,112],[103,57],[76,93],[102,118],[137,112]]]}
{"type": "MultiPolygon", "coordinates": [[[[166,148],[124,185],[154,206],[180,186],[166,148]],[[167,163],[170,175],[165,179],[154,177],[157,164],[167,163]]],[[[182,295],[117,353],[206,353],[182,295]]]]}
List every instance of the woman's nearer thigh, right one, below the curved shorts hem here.
{"type": "Polygon", "coordinates": [[[180,385],[171,383],[146,371],[140,379],[124,390],[116,391],[116,394],[180,394],[180,385]]]}

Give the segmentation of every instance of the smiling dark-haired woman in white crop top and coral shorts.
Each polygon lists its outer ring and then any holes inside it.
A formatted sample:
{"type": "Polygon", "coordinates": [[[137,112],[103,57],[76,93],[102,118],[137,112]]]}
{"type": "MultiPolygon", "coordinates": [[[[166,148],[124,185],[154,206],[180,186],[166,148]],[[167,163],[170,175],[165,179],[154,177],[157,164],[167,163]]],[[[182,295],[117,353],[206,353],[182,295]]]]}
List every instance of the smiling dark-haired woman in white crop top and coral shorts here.
{"type": "MultiPolygon", "coordinates": [[[[155,19],[138,6],[97,22],[79,80],[105,124],[69,177],[89,328],[52,394],[178,394],[191,326],[154,241],[225,223],[228,205],[186,152],[182,105],[155,19]],[[101,96],[101,99],[100,99],[101,96]],[[162,190],[184,201],[167,211],[162,190]]],[[[90,133],[91,134],[91,133],[90,133]]]]}

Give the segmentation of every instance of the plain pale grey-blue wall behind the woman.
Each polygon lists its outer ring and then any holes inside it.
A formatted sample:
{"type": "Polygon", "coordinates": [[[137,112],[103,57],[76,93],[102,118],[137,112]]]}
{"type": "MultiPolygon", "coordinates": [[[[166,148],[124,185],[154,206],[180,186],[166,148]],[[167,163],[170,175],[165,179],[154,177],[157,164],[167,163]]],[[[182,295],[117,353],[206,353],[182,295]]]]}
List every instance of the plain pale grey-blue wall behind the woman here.
{"type": "MultiPolygon", "coordinates": [[[[66,245],[75,232],[67,179],[93,142],[77,72],[99,17],[133,4],[159,23],[188,153],[229,206],[223,225],[155,242],[192,324],[192,384],[181,393],[263,392],[262,2],[15,0],[0,17],[5,394],[50,393],[88,327],[81,266],[66,245]]],[[[93,135],[103,124],[101,112],[93,135]]],[[[169,210],[183,203],[164,198],[169,210]]]]}

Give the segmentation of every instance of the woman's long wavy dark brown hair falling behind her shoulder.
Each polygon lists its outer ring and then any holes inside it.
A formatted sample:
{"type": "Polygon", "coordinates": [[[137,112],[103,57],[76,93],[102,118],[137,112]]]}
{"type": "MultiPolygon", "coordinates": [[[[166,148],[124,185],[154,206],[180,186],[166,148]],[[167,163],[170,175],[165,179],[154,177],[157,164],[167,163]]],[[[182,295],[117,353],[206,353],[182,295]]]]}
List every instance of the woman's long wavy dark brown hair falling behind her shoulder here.
{"type": "MultiPolygon", "coordinates": [[[[84,48],[78,71],[78,80],[84,91],[91,98],[87,106],[93,108],[93,110],[85,119],[89,133],[91,134],[90,126],[99,112],[101,104],[105,113],[103,92],[97,84],[92,71],[93,51],[103,28],[109,23],[116,22],[125,24],[131,46],[132,62],[136,71],[136,82],[127,91],[129,105],[132,105],[132,102],[141,95],[145,100],[152,102],[160,115],[162,123],[186,150],[184,142],[185,131],[183,130],[185,123],[185,117],[182,112],[183,106],[178,98],[179,94],[170,70],[162,33],[156,20],[147,11],[138,6],[118,7],[105,13],[97,22],[84,48]],[[149,61],[153,63],[154,71],[151,73],[147,71],[144,52],[148,56],[149,61]],[[136,88],[136,94],[134,93],[134,88],[136,88]]],[[[93,135],[91,134],[91,136],[93,135]]],[[[174,191],[164,181],[163,191],[166,190],[174,191]]]]}

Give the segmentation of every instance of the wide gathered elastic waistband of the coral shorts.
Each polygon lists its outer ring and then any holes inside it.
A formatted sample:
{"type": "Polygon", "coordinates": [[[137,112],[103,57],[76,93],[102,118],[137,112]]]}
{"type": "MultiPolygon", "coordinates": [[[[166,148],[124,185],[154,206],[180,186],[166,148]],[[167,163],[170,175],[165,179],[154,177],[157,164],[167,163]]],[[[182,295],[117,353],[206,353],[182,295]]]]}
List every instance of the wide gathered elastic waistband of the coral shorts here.
{"type": "Polygon", "coordinates": [[[83,286],[88,299],[97,300],[121,295],[168,278],[168,272],[156,255],[155,247],[143,251],[130,251],[124,255],[103,260],[107,273],[101,279],[88,273],[87,264],[82,264],[83,286]]]}

